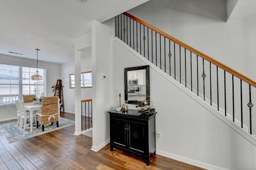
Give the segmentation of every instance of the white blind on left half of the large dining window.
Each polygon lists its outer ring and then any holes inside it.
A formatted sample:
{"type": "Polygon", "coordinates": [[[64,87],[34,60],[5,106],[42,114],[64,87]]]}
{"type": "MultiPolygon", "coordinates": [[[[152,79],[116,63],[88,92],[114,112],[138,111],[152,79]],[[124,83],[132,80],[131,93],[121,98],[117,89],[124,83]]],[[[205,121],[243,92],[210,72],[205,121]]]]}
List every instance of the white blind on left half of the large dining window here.
{"type": "Polygon", "coordinates": [[[20,66],[0,64],[0,105],[14,104],[19,91],[20,66]]]}

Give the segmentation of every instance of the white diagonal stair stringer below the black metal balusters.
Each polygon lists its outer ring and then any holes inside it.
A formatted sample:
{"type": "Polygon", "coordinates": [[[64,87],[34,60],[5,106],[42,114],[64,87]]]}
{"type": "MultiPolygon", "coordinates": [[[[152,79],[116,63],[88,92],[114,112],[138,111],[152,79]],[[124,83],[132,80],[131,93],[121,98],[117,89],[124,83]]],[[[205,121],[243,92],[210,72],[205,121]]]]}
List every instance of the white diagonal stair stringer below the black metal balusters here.
{"type": "Polygon", "coordinates": [[[177,82],[174,78],[170,77],[169,75],[167,75],[166,73],[164,73],[164,71],[162,71],[160,68],[158,68],[156,65],[154,65],[152,62],[148,61],[148,59],[146,59],[145,57],[143,57],[142,55],[140,55],[140,53],[138,53],[137,51],[135,51],[134,49],[132,49],[129,45],[127,45],[126,43],[124,43],[122,40],[120,40],[117,37],[114,37],[112,40],[117,41],[118,43],[120,43],[121,45],[123,45],[126,49],[128,49],[131,53],[133,53],[136,57],[138,57],[138,59],[140,59],[141,61],[143,61],[144,63],[146,63],[147,65],[150,65],[151,69],[154,69],[154,71],[156,71],[159,75],[161,75],[162,77],[164,77],[166,80],[168,80],[170,83],[172,83],[173,85],[175,85],[176,87],[178,87],[178,89],[180,89],[181,91],[183,91],[184,93],[186,93],[186,95],[188,95],[189,97],[191,97],[192,99],[194,99],[194,101],[196,101],[197,103],[199,103],[200,105],[202,105],[204,108],[206,108],[208,111],[210,111],[210,113],[212,113],[214,116],[218,117],[218,119],[220,119],[221,121],[223,121],[224,123],[226,123],[229,127],[233,128],[236,132],[238,132],[241,136],[243,136],[244,138],[246,138],[249,142],[251,142],[252,144],[254,144],[256,146],[256,138],[254,136],[252,136],[251,134],[249,134],[248,132],[246,132],[245,130],[243,130],[242,128],[240,128],[238,125],[236,125],[235,123],[233,123],[232,121],[230,121],[228,118],[224,117],[221,113],[219,113],[218,111],[216,111],[211,105],[209,105],[207,102],[203,101],[200,97],[198,97],[197,95],[195,95],[194,93],[192,93],[189,89],[187,89],[186,87],[184,87],[183,85],[181,85],[179,82],[177,82]]]}

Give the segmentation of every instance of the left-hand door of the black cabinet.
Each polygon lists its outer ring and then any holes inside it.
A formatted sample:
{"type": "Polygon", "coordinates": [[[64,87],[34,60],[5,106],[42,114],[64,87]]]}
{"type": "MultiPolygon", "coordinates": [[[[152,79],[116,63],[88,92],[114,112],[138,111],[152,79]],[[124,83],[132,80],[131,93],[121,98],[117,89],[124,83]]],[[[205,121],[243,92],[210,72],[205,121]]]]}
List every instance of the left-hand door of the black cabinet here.
{"type": "Polygon", "coordinates": [[[126,121],[120,119],[112,119],[112,138],[111,142],[113,144],[126,147],[126,121]]]}

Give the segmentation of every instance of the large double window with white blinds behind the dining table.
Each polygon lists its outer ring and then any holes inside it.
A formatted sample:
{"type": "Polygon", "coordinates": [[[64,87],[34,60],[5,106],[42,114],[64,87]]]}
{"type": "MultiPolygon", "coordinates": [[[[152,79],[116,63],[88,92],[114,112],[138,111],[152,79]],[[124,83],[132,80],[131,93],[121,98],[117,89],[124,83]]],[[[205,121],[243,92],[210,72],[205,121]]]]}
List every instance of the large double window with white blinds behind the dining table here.
{"type": "MultiPolygon", "coordinates": [[[[22,65],[0,64],[0,105],[14,104],[22,100],[22,94],[36,94],[40,97],[45,92],[45,82],[31,80],[36,74],[36,68],[22,65]]],[[[44,77],[45,69],[38,69],[38,74],[44,77]]]]}

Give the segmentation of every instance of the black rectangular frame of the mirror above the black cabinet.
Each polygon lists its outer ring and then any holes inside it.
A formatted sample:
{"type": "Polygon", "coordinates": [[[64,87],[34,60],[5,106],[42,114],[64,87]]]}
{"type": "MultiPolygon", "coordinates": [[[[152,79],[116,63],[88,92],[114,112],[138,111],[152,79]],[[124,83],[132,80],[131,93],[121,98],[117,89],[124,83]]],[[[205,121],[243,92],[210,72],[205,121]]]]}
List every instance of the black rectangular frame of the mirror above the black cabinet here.
{"type": "MultiPolygon", "coordinates": [[[[138,67],[128,67],[124,68],[124,100],[128,101],[128,80],[127,80],[127,71],[132,70],[143,70],[146,69],[146,100],[150,100],[150,81],[149,81],[149,65],[142,65],[138,67]]],[[[129,103],[128,104],[138,104],[138,103],[129,103]]],[[[149,104],[149,102],[148,102],[149,104]]]]}

